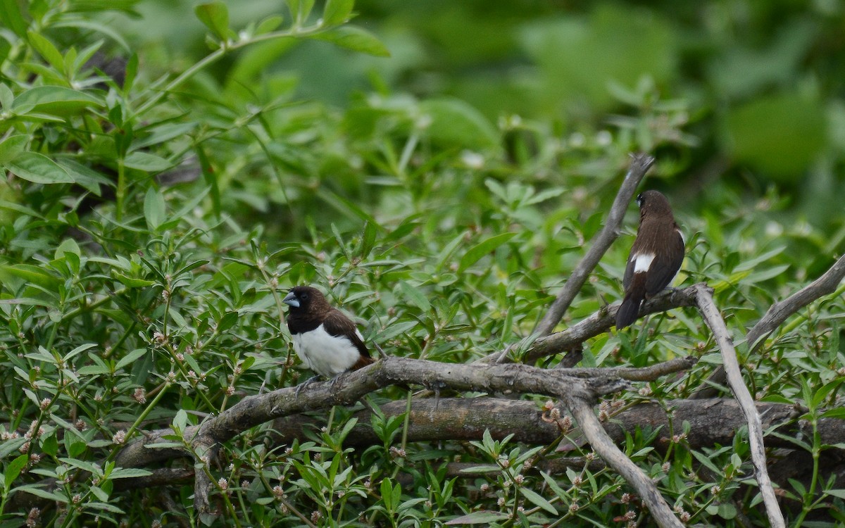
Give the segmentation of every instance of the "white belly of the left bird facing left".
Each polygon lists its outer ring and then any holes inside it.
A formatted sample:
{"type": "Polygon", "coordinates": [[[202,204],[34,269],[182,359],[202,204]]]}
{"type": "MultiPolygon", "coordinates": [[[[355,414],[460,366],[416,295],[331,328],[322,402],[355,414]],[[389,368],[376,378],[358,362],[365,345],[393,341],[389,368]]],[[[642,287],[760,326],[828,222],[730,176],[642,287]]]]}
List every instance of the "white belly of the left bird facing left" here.
{"type": "MultiPolygon", "coordinates": [[[[355,330],[358,337],[361,333],[355,330]]],[[[317,328],[294,334],[293,350],[308,368],[324,378],[334,378],[337,374],[346,372],[358,362],[361,352],[346,337],[330,335],[323,325],[317,328]]]]}

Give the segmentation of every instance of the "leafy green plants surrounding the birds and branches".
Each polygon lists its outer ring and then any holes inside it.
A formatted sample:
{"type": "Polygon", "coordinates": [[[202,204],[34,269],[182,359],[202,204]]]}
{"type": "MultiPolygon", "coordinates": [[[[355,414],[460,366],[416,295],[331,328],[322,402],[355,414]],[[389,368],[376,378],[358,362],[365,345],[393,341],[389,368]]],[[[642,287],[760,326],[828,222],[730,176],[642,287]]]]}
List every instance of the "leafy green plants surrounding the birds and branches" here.
{"type": "MultiPolygon", "coordinates": [[[[503,117],[497,127],[488,107],[465,91],[409,95],[377,73],[374,90],[353,94],[343,109],[303,97],[307,79],[299,76],[332,68],[277,64],[303,48],[325,49],[307,46],[328,42],[347,63],[363,60],[361,52],[402,51],[346,24],[370,4],[289,0],[281,13],[243,20],[226,3],[200,3],[190,21],[204,28],[198,39],[207,47],[191,59],[131,35],[137,26],[130,22],[111,21],[136,17],[157,34],[156,24],[177,19],[179,31],[194,31],[178,17],[139,13],[161,5],[0,1],[3,525],[36,515],[25,507],[28,495],[50,504],[33,520],[41,525],[174,524],[193,515],[191,482],[164,488],[173,511],[157,491],[122,488],[123,479],[147,471],[120,467],[117,455],[143,430],[160,427],[173,427],[170,447],[191,449],[186,432],[203,416],[296,384],[300,370],[281,302],[288,287],[322,288],[387,354],[470,362],[531,334],[601,229],[628,152],[665,153],[655,170],[661,178],[676,177],[695,157],[701,103],[661,95],[679,76],[681,32],[641,8],[628,17],[622,5],[521,29],[553,90],[517,103],[548,108],[583,92],[597,114],[619,112],[602,117],[609,124],[600,129],[561,127],[537,117],[541,112],[503,117]],[[619,41],[609,38],[629,23],[619,41]],[[535,39],[571,47],[559,62],[535,39]],[[629,47],[641,52],[641,63],[623,60],[629,47]],[[576,60],[579,52],[589,52],[591,63],[576,60]],[[608,53],[619,56],[602,61],[608,53]],[[564,75],[564,65],[577,74],[564,75]],[[601,75],[592,78],[597,65],[601,75]]],[[[460,22],[468,9],[432,16],[460,22]]],[[[782,39],[793,50],[810,36],[782,39]]],[[[451,60],[495,57],[500,46],[472,42],[451,60]]],[[[799,61],[790,64],[799,68],[799,61]]],[[[754,86],[792,72],[778,71],[756,75],[754,86]]],[[[803,154],[784,157],[798,171],[817,153],[824,101],[804,94],[771,101],[728,114],[728,132],[742,137],[736,153],[761,165],[780,160],[760,154],[782,148],[777,134],[745,136],[757,132],[758,121],[771,122],[772,108],[797,112],[803,154]]],[[[683,193],[673,197],[688,235],[678,284],[714,286],[739,337],[771,302],[826,269],[845,231],[841,218],[784,220],[790,197],[777,188],[753,208],[730,185],[708,192],[717,206],[701,214],[683,193]],[[826,231],[831,225],[838,231],[826,231]]],[[[633,226],[633,210],[628,220],[633,226]]],[[[564,324],[619,298],[629,242],[622,237],[611,248],[564,324]]],[[[760,398],[802,402],[814,425],[830,416],[841,390],[841,294],[811,305],[744,358],[760,398]]],[[[689,395],[717,362],[701,321],[675,310],[645,325],[589,340],[584,364],[701,355],[683,379],[638,387],[661,401],[689,395]]],[[[404,396],[386,389],[373,403],[404,396]]],[[[622,406],[639,398],[619,397],[622,406]]],[[[335,408],[325,428],[303,442],[275,446],[264,424],[224,445],[219,464],[194,454],[194,470],[212,477],[224,512],[213,522],[613,525],[625,515],[647,522],[619,476],[590,469],[586,447],[570,454],[586,457],[578,470],[537,471],[542,457],[557,456],[556,444],[529,446],[490,433],[471,443],[407,443],[404,416],[379,415],[373,406],[370,425],[380,443],[357,452],[343,444],[357,425],[351,410],[335,408]],[[476,464],[477,474],[450,476],[445,463],[459,459],[476,464]]],[[[684,427],[677,425],[665,451],[653,448],[657,431],[631,435],[624,448],[694,522],[717,516],[732,525],[741,505],[744,517],[763,525],[754,493],[740,486],[751,471],[741,435],[733,446],[700,451],[684,445],[684,427]]],[[[802,442],[816,461],[831,449],[818,438],[802,442]]],[[[800,504],[796,524],[831,501],[842,505],[842,490],[820,475],[781,485],[800,504]]]]}

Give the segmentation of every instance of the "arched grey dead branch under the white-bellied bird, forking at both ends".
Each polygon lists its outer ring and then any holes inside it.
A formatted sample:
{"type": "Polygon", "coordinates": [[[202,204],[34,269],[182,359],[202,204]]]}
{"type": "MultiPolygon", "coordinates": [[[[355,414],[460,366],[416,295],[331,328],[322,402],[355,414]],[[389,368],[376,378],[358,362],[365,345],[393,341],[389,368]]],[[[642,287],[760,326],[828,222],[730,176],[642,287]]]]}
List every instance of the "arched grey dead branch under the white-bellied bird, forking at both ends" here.
{"type": "MultiPolygon", "coordinates": [[[[690,364],[691,362],[687,363],[687,365],[690,364]]],[[[682,365],[682,362],[678,362],[673,365],[673,368],[680,368],[682,365]]],[[[651,374],[645,377],[656,378],[659,375],[658,371],[659,369],[648,369],[651,374]]],[[[249,396],[219,416],[206,420],[199,427],[188,427],[183,432],[183,438],[191,444],[199,469],[202,470],[197,471],[194,482],[194,507],[202,516],[216,514],[209,500],[210,493],[215,488],[211,478],[210,462],[215,459],[220,444],[249,427],[269,422],[274,418],[348,404],[375,389],[390,384],[437,384],[444,388],[458,390],[548,395],[564,401],[577,417],[578,413],[583,411],[576,410],[575,406],[584,406],[586,402],[595,401],[600,395],[617,392],[629,385],[624,378],[608,372],[613,372],[613,369],[609,371],[602,368],[579,369],[577,372],[579,375],[573,375],[565,369],[547,370],[521,364],[466,365],[386,357],[369,367],[343,375],[335,379],[334,383],[308,385],[298,396],[294,388],[249,396]],[[591,376],[587,377],[590,371],[591,376]]],[[[620,372],[635,377],[644,375],[638,375],[629,369],[620,372]]],[[[592,413],[591,410],[590,413],[592,413]]],[[[582,419],[586,418],[582,417],[582,419]]],[[[598,434],[606,437],[603,431],[597,433],[595,427],[592,427],[589,430],[585,429],[584,433],[591,444],[600,443],[602,449],[606,449],[609,438],[597,437],[598,434]]],[[[117,456],[117,464],[123,467],[133,465],[133,460],[143,456],[150,445],[163,441],[166,434],[168,432],[152,433],[143,440],[127,446],[117,456]]],[[[614,461],[613,464],[617,463],[614,461]]],[[[619,465],[619,467],[624,467],[625,475],[630,476],[630,468],[627,465],[619,465]]],[[[647,480],[642,474],[641,477],[647,480]]],[[[652,499],[659,498],[656,487],[653,493],[646,496],[645,490],[641,490],[641,485],[641,479],[638,479],[635,487],[640,491],[650,509],[661,511],[668,509],[665,502],[663,504],[651,502],[652,499]]]]}

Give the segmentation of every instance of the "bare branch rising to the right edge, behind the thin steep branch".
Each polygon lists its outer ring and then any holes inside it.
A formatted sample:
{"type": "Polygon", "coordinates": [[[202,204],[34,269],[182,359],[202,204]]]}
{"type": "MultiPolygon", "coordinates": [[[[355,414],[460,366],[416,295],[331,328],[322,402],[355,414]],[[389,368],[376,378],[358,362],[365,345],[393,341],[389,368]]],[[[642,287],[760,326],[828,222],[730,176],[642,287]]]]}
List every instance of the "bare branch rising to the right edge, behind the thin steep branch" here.
{"type": "MultiPolygon", "coordinates": [[[[836,291],[837,286],[839,286],[843,278],[845,278],[845,255],[842,255],[824,275],[821,275],[808,286],[804,286],[804,288],[796,291],[783,301],[772,304],[766,311],[766,315],[760,318],[757,324],[745,335],[745,342],[748,344],[749,352],[754,352],[762,344],[763,341],[761,338],[777,329],[793,313],[798,312],[801,308],[810,304],[810,302],[814,302],[816,299],[830,295],[836,291]]],[[[691,397],[694,399],[712,398],[718,393],[714,385],[722,385],[725,383],[725,380],[724,367],[717,367],[691,397]]]]}

